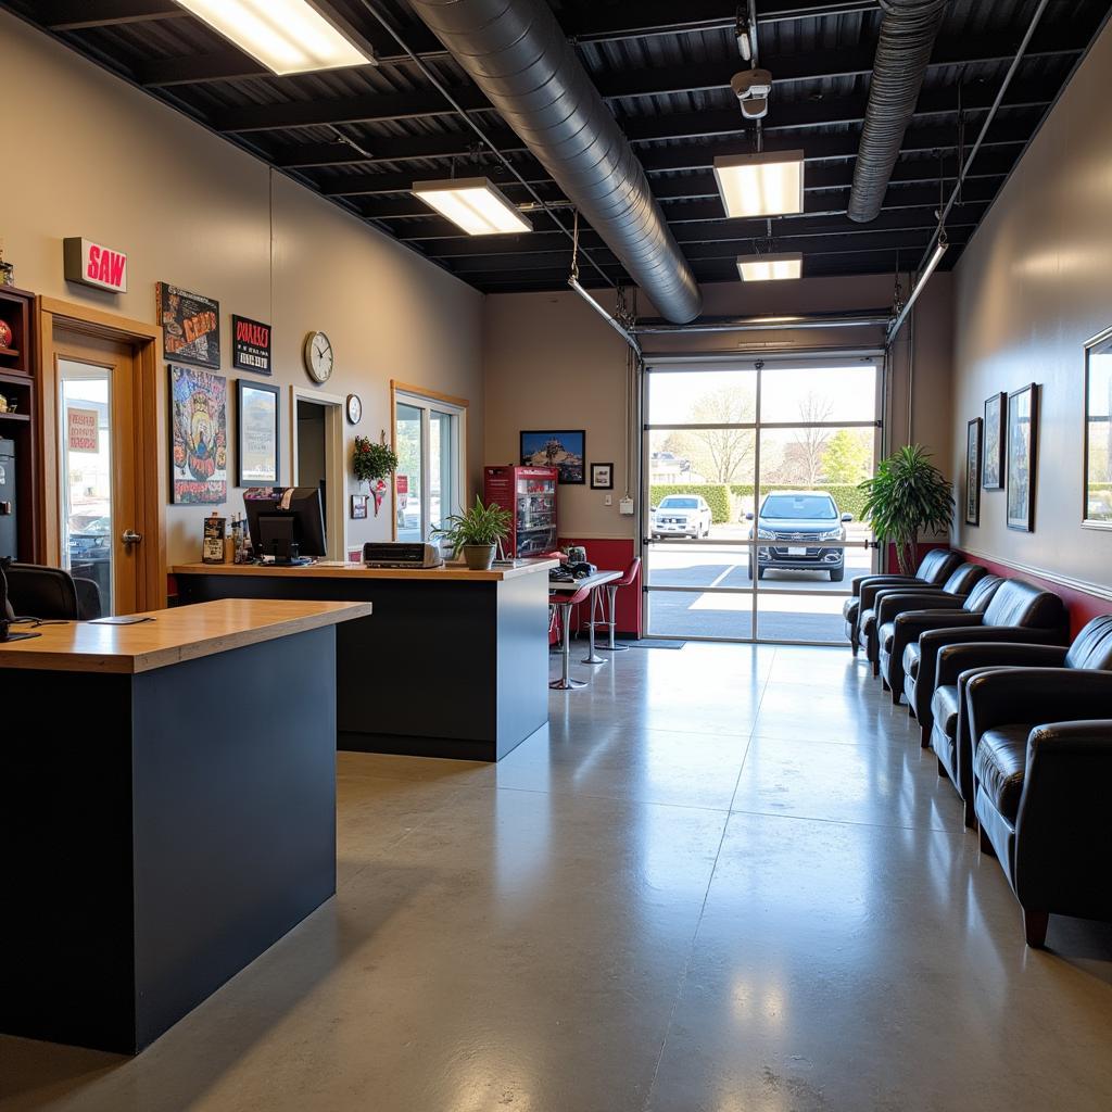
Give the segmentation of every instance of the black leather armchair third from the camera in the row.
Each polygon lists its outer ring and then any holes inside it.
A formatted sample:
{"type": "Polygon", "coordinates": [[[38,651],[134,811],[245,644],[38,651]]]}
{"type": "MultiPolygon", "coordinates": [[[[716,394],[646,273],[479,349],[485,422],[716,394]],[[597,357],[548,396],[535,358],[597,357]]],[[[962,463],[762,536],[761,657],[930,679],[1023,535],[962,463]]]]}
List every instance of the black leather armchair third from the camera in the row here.
{"type": "MultiPolygon", "coordinates": [[[[989,589],[982,579],[970,595],[989,589]]],[[[931,699],[934,697],[939,653],[946,645],[965,642],[1020,642],[1027,645],[1065,645],[1069,616],[1058,595],[1024,583],[1004,579],[995,587],[984,613],[975,610],[910,610],[895,620],[891,658],[903,671],[907,708],[919,719],[922,745],[931,744],[931,699]]],[[[884,637],[882,635],[882,647],[884,637]]],[[[893,669],[892,675],[895,675],[893,669]]]]}

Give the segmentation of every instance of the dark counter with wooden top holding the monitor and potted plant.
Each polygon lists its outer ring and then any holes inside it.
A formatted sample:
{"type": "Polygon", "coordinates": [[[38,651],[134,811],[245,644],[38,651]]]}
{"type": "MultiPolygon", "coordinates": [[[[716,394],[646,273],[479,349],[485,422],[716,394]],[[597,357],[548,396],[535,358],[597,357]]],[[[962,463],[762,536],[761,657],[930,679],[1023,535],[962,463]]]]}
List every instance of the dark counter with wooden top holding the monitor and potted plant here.
{"type": "Polygon", "coordinates": [[[337,628],[337,745],[364,753],[498,761],[548,722],[548,570],[188,564],[181,603],[371,602],[337,628]]]}

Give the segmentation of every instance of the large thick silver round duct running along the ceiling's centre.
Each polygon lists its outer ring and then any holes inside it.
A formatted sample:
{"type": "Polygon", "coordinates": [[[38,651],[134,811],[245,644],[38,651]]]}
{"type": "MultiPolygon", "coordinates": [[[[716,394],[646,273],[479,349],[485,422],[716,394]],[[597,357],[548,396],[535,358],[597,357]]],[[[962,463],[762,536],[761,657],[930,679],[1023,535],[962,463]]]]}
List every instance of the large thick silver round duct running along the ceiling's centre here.
{"type": "Polygon", "coordinates": [[[702,296],[628,140],[545,0],[409,0],[668,320],[702,296]]]}

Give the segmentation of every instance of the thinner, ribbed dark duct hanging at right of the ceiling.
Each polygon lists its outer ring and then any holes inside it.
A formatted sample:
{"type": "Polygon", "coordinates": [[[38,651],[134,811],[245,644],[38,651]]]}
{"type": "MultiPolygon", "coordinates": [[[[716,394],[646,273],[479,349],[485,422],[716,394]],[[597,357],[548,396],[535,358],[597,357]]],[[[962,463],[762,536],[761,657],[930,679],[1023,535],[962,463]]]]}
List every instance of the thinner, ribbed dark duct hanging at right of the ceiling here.
{"type": "Polygon", "coordinates": [[[884,18],[865,126],[853,169],[848,216],[875,220],[942,24],[946,0],[880,0],[884,18]]]}

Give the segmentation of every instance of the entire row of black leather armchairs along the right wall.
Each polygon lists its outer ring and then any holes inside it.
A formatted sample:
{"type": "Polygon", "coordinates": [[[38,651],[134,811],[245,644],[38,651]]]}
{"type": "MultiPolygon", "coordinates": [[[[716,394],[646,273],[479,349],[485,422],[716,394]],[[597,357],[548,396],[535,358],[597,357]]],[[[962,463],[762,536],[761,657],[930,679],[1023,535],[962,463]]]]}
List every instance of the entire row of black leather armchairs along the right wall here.
{"type": "Polygon", "coordinates": [[[935,549],[914,576],[854,580],[843,616],[999,858],[1027,944],[1051,914],[1112,920],[1112,615],[1071,644],[1058,595],[935,549]]]}

